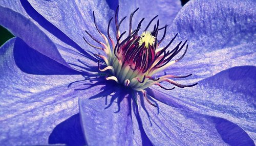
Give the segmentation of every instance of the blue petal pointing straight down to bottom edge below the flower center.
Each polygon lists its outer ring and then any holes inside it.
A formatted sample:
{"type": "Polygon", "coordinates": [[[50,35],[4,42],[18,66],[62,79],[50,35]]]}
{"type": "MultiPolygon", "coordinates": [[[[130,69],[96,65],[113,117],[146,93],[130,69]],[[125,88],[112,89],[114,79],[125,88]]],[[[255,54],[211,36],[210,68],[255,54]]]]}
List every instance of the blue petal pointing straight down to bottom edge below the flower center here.
{"type": "Polygon", "coordinates": [[[131,145],[133,138],[131,105],[127,98],[113,95],[112,98],[122,102],[111,101],[116,103],[110,107],[105,105],[104,96],[95,98],[99,99],[84,99],[79,102],[82,127],[88,144],[131,145]]]}

